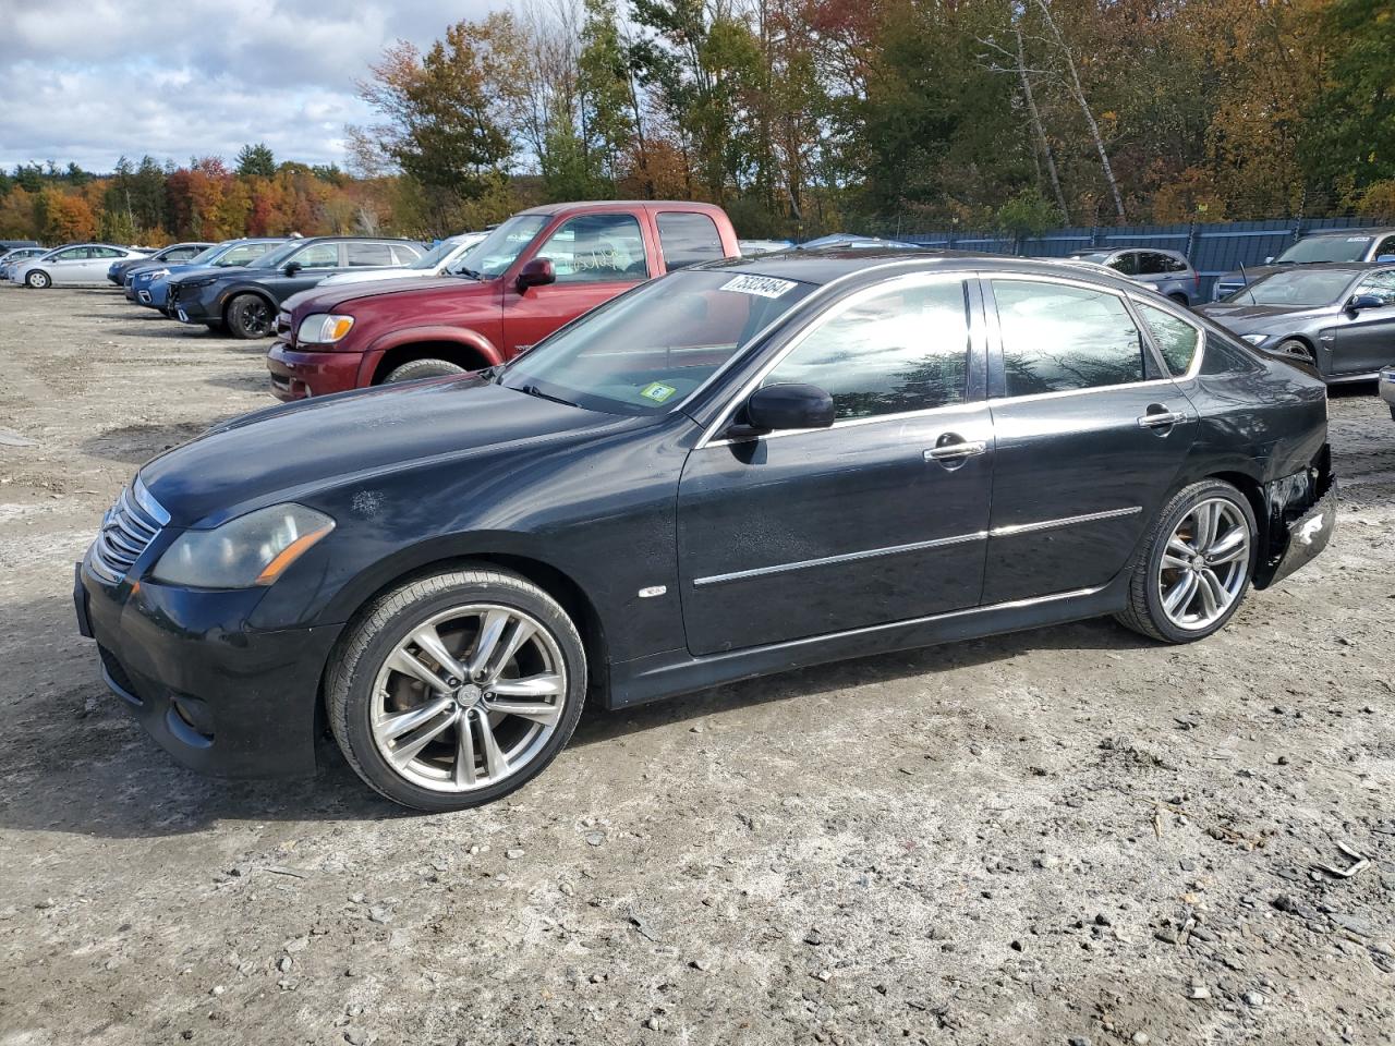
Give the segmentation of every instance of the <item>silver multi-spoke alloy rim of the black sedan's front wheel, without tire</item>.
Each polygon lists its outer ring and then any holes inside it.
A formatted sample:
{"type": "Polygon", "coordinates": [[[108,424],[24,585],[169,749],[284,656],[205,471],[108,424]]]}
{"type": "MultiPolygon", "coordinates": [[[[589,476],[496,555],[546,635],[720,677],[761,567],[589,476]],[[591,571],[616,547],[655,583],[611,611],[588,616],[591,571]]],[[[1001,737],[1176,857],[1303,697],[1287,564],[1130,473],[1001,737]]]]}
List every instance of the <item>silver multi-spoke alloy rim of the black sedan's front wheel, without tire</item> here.
{"type": "Polygon", "coordinates": [[[495,604],[458,607],[413,628],[384,660],[372,741],[416,785],[477,791],[538,757],[566,690],[561,647],[537,618],[495,604]]]}

